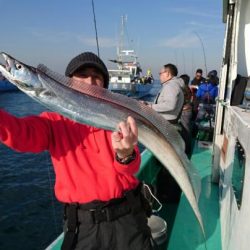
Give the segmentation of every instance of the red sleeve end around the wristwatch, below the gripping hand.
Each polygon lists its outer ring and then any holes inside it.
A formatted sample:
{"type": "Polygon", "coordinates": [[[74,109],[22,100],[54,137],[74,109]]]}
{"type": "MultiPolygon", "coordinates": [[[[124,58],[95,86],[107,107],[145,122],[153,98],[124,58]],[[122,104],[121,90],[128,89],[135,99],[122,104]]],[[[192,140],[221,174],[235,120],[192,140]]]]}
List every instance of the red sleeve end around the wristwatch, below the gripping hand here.
{"type": "MultiPolygon", "coordinates": [[[[136,158],[128,165],[121,164],[115,160],[115,169],[122,174],[134,175],[140,168],[141,155],[138,147],[135,147],[136,158]]],[[[115,158],[115,157],[114,157],[115,158]]]]}

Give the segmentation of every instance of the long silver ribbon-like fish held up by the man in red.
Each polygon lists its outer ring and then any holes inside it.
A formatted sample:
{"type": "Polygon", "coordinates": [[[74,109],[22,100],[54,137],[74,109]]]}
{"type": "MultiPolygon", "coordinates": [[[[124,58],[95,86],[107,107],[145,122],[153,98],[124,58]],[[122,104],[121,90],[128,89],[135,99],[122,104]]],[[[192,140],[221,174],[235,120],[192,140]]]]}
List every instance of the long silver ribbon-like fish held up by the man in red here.
{"type": "Polygon", "coordinates": [[[184,143],[176,129],[146,105],[106,89],[80,84],[48,69],[26,65],[1,53],[2,74],[24,93],[79,123],[115,131],[117,124],[132,116],[138,126],[139,142],[167,168],[186,195],[203,232],[198,207],[200,179],[184,153],[184,143]]]}

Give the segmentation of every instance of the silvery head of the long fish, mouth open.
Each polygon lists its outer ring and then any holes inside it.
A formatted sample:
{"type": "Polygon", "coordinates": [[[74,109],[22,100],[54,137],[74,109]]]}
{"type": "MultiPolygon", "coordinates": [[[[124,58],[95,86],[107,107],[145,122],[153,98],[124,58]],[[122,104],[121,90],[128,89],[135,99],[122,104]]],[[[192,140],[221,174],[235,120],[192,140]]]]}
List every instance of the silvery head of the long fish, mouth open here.
{"type": "Polygon", "coordinates": [[[0,55],[5,61],[5,65],[0,64],[0,72],[12,84],[25,92],[36,92],[43,87],[36,68],[26,65],[4,52],[1,52],[0,55]]]}

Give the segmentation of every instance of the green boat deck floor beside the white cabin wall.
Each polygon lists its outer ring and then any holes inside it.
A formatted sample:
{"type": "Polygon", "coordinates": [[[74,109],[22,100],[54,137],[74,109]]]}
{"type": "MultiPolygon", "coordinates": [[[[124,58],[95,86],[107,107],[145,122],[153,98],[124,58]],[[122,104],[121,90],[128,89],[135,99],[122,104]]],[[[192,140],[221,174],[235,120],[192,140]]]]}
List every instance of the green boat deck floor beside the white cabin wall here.
{"type": "Polygon", "coordinates": [[[168,250],[220,250],[221,229],[218,185],[211,182],[211,149],[194,148],[191,161],[198,170],[201,182],[199,207],[203,218],[206,243],[193,211],[182,194],[175,223],[169,236],[168,250]]]}

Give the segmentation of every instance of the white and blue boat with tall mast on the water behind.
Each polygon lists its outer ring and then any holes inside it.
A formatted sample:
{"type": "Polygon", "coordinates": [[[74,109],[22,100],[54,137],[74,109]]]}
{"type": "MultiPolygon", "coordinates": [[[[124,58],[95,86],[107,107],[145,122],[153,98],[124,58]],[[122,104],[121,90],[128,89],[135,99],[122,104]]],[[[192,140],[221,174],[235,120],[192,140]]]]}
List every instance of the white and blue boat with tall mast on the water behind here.
{"type": "Polygon", "coordinates": [[[109,60],[117,65],[117,69],[109,70],[109,90],[127,96],[144,97],[149,94],[152,88],[153,75],[151,70],[148,69],[146,76],[142,76],[142,69],[135,50],[123,48],[125,22],[126,17],[122,16],[121,39],[117,49],[117,59],[109,60]]]}

